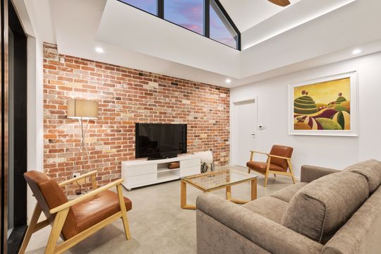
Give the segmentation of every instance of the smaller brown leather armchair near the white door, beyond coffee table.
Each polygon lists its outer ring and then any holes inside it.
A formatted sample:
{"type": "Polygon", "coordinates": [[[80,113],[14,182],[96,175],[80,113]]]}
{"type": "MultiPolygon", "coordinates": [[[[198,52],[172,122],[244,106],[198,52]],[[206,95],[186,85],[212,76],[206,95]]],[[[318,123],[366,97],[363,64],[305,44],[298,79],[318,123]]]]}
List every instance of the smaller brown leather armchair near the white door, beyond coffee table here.
{"type": "Polygon", "coordinates": [[[294,148],[292,147],[273,145],[270,154],[265,152],[250,151],[250,161],[246,163],[246,166],[248,167],[248,174],[250,174],[250,170],[253,170],[265,175],[265,187],[267,186],[269,174],[274,174],[274,176],[277,176],[277,174],[291,176],[292,181],[295,184],[294,172],[291,167],[291,155],[293,150],[294,148]],[[267,155],[267,162],[253,161],[254,153],[267,155]],[[289,169],[289,172],[287,172],[287,169],[289,169]]]}

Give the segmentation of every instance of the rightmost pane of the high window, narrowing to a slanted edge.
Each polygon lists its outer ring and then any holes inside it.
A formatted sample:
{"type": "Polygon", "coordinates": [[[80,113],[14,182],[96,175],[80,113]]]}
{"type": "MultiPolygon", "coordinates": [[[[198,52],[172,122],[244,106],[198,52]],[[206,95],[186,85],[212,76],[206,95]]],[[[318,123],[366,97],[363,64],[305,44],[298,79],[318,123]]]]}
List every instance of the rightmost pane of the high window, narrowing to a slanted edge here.
{"type": "Polygon", "coordinates": [[[238,35],[214,1],[210,1],[210,38],[237,48],[238,35]]]}

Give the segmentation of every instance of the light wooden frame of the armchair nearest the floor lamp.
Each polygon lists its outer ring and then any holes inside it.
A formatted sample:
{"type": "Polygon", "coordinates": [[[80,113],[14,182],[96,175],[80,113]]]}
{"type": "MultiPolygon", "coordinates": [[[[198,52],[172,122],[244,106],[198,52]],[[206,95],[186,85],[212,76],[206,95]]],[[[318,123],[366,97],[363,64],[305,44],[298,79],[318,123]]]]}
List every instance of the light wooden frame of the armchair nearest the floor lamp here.
{"type": "MultiPolygon", "coordinates": [[[[79,243],[80,241],[83,241],[88,236],[91,236],[95,232],[97,232],[99,229],[102,229],[104,226],[107,226],[108,224],[114,222],[116,219],[121,218],[123,221],[123,227],[124,232],[126,234],[127,240],[131,238],[130,236],[130,230],[128,226],[128,219],[127,219],[127,212],[126,212],[126,205],[124,203],[123,198],[123,191],[121,187],[121,183],[123,183],[123,179],[116,180],[112,183],[109,183],[105,186],[102,186],[100,188],[97,188],[97,181],[95,179],[95,175],[97,174],[97,171],[91,171],[87,174],[83,174],[82,176],[79,176],[75,179],[70,179],[68,181],[63,181],[59,183],[59,186],[67,186],[70,183],[73,183],[75,181],[78,181],[80,179],[85,179],[87,177],[91,178],[92,182],[92,191],[90,193],[87,193],[85,195],[82,195],[78,198],[75,198],[74,200],[69,200],[68,202],[59,205],[58,207],[54,207],[52,210],[49,210],[50,214],[55,214],[54,222],[52,224],[52,231],[50,232],[49,240],[47,242],[47,248],[45,250],[46,254],[51,253],[63,253],[64,251],[68,250],[69,248],[75,246],[75,244],[79,243]],[[85,231],[80,232],[79,234],[76,234],[75,236],[66,239],[66,241],[63,241],[62,243],[57,244],[57,240],[61,234],[63,224],[65,223],[66,217],[68,215],[68,212],[70,210],[70,207],[78,204],[78,202],[82,202],[83,200],[87,200],[88,198],[91,198],[94,195],[97,195],[99,193],[102,193],[103,191],[108,190],[109,188],[113,188],[116,186],[116,190],[119,197],[119,205],[121,207],[121,210],[119,212],[116,212],[116,214],[111,215],[107,219],[102,220],[102,222],[99,222],[95,224],[94,226],[91,226],[90,228],[86,229],[85,231]]],[[[25,249],[28,246],[28,243],[30,241],[30,237],[33,233],[36,231],[39,231],[40,229],[43,229],[45,226],[48,226],[50,223],[46,219],[43,222],[38,222],[38,219],[40,218],[42,210],[40,206],[36,205],[35,211],[33,212],[32,219],[30,220],[30,224],[28,226],[28,229],[25,234],[25,238],[23,240],[23,244],[21,245],[21,248],[19,250],[19,254],[25,253],[25,249]]]]}

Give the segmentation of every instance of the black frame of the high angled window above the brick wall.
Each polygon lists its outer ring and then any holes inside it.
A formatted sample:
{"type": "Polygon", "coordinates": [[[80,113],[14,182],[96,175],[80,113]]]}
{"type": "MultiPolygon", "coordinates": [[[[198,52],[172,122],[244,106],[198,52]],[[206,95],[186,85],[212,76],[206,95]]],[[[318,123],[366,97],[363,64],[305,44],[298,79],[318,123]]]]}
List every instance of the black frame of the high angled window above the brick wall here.
{"type": "MultiPolygon", "coordinates": [[[[156,15],[153,14],[153,13],[150,13],[148,11],[145,11],[145,10],[143,10],[141,8],[138,8],[136,6],[133,6],[131,4],[128,4],[128,3],[124,2],[123,0],[117,0],[117,1],[120,1],[123,4],[127,4],[128,6],[131,6],[133,8],[137,8],[140,11],[144,11],[145,13],[148,13],[148,14],[150,14],[152,16],[155,16],[157,18],[160,18],[162,20],[166,20],[164,18],[164,1],[165,0],[156,0],[157,1],[157,14],[156,15]]],[[[174,22],[171,22],[170,20],[166,20],[166,21],[169,22],[169,23],[172,23],[174,25],[177,25],[180,28],[183,28],[183,29],[186,29],[188,31],[194,32],[197,35],[201,35],[202,37],[207,37],[208,39],[213,40],[214,42],[218,42],[220,44],[223,44],[226,47],[230,47],[231,49],[236,49],[238,51],[241,51],[241,32],[238,30],[238,28],[234,24],[233,20],[231,20],[229,14],[226,12],[224,6],[222,6],[222,4],[219,2],[219,0],[213,0],[213,1],[217,4],[217,7],[219,8],[219,10],[224,14],[224,18],[226,18],[226,21],[231,25],[231,28],[233,28],[233,30],[237,34],[237,47],[236,48],[235,47],[231,47],[231,46],[229,46],[227,44],[224,44],[222,42],[219,42],[217,40],[214,40],[214,39],[210,38],[210,0],[204,0],[204,34],[203,35],[198,33],[198,32],[195,32],[193,30],[190,30],[188,28],[184,28],[183,26],[181,26],[179,24],[176,24],[174,22]]]]}

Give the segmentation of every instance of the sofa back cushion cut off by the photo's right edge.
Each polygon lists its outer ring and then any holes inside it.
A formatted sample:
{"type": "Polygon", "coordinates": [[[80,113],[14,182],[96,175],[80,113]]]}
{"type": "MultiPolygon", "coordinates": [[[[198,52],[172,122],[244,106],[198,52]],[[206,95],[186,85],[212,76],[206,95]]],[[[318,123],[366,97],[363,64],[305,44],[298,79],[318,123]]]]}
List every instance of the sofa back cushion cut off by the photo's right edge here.
{"type": "Polygon", "coordinates": [[[369,185],[369,193],[372,194],[381,184],[381,162],[376,159],[369,159],[365,162],[358,162],[344,171],[351,171],[353,173],[365,176],[369,185]]]}

